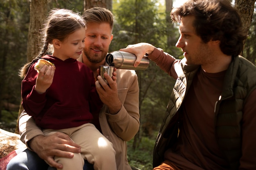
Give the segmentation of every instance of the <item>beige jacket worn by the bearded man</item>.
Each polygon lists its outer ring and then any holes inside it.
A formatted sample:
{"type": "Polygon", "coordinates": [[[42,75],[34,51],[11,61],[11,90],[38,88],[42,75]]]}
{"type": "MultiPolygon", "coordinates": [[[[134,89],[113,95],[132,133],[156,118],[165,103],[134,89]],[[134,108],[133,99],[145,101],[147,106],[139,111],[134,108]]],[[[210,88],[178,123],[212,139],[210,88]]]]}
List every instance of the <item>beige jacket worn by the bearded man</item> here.
{"type": "MultiPolygon", "coordinates": [[[[111,115],[106,105],[99,114],[103,135],[112,142],[116,151],[117,170],[131,170],[127,160],[126,141],[132,139],[139,130],[139,85],[135,71],[117,69],[117,88],[122,108],[111,115]]],[[[24,111],[19,120],[20,140],[27,142],[43,132],[24,111]]]]}

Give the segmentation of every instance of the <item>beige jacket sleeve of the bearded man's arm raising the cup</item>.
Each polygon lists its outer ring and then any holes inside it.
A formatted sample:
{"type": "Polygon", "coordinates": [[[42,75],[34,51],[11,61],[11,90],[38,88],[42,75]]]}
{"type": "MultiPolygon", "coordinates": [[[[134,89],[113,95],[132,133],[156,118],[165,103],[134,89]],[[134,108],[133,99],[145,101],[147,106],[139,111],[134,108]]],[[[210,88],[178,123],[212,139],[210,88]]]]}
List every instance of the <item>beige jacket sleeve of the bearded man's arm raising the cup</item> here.
{"type": "Polygon", "coordinates": [[[135,71],[126,71],[122,77],[122,81],[129,82],[129,85],[127,89],[119,89],[118,92],[123,104],[121,110],[115,115],[106,114],[115,134],[129,141],[139,130],[139,85],[135,71]]]}

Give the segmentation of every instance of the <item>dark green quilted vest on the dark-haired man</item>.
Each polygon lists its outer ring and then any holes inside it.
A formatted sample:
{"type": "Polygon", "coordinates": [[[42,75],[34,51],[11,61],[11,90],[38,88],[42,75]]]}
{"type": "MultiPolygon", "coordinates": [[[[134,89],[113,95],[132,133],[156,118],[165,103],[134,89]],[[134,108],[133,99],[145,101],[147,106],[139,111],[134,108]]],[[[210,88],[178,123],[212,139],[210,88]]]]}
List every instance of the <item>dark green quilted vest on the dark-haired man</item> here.
{"type": "MultiPolygon", "coordinates": [[[[157,135],[153,167],[159,166],[164,161],[164,152],[177,141],[178,114],[176,113],[182,105],[194,75],[200,68],[200,66],[186,65],[184,62],[180,62],[179,65],[182,71],[178,71],[180,74],[173,87],[164,121],[157,135]]],[[[216,139],[233,170],[238,170],[242,151],[240,123],[243,117],[243,105],[256,88],[255,77],[254,64],[242,56],[234,57],[225,75],[223,91],[215,105],[216,139]]]]}

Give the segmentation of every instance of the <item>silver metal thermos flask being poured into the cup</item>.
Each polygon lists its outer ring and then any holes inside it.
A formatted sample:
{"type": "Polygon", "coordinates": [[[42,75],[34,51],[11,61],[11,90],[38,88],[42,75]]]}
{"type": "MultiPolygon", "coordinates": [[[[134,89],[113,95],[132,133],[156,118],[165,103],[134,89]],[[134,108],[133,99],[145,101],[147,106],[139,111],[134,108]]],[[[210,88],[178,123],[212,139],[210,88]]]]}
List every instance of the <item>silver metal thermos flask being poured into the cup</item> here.
{"type": "Polygon", "coordinates": [[[148,57],[144,56],[137,67],[133,66],[135,60],[136,55],[124,51],[113,51],[106,55],[106,63],[110,66],[115,66],[117,69],[145,70],[148,68],[148,57]]]}

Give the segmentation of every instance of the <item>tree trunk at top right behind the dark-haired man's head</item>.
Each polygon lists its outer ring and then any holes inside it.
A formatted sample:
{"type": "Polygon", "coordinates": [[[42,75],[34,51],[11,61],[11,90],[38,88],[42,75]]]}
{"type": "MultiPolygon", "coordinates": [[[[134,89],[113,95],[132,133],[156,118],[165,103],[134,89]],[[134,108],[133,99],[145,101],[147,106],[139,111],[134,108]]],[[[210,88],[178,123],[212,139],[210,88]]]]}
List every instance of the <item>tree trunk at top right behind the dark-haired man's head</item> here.
{"type": "MultiPolygon", "coordinates": [[[[240,16],[242,18],[242,22],[244,25],[244,29],[246,33],[249,31],[249,27],[252,22],[252,15],[254,13],[254,4],[256,0],[236,0],[235,5],[238,11],[240,12],[240,16]]],[[[244,41],[245,44],[245,41],[244,41]]],[[[241,53],[241,55],[243,52],[241,53]]]]}

